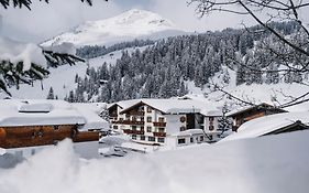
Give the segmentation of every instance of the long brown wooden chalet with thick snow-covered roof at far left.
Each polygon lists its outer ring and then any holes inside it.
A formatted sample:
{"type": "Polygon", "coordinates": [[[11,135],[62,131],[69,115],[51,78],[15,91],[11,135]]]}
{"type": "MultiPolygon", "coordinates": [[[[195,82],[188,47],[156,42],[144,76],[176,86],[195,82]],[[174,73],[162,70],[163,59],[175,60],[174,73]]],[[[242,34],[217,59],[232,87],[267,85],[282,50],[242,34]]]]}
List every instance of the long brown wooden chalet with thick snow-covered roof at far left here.
{"type": "Polygon", "coordinates": [[[85,112],[63,100],[0,100],[0,148],[8,152],[56,144],[99,140],[109,125],[95,112],[85,112]]]}

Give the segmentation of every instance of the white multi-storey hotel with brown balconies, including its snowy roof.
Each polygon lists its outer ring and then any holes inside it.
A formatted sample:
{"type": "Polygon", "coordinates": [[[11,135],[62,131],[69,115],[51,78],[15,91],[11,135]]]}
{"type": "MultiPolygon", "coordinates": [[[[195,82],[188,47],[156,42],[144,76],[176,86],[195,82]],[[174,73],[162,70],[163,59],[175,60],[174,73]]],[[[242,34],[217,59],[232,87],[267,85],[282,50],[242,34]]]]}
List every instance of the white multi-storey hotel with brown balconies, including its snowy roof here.
{"type": "MultiPolygon", "coordinates": [[[[114,104],[109,111],[113,129],[130,135],[135,142],[166,144],[166,138],[173,136],[178,141],[183,136],[177,137],[175,133],[190,129],[198,129],[202,136],[218,133],[220,112],[211,104],[177,98],[140,99],[130,103],[133,105],[122,110],[119,110],[120,105],[114,104]]],[[[199,140],[205,141],[207,140],[199,140]]],[[[183,144],[181,140],[179,144],[183,144]]]]}

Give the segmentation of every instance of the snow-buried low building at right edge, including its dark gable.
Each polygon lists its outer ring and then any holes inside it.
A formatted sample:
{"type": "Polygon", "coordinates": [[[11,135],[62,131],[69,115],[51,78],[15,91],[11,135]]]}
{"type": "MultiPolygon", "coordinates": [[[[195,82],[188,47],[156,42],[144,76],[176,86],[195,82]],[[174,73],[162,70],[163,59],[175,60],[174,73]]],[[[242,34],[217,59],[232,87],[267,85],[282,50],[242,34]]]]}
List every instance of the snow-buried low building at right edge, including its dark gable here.
{"type": "Polygon", "coordinates": [[[222,141],[309,130],[308,125],[308,111],[269,115],[243,124],[238,132],[228,136],[222,141]]]}

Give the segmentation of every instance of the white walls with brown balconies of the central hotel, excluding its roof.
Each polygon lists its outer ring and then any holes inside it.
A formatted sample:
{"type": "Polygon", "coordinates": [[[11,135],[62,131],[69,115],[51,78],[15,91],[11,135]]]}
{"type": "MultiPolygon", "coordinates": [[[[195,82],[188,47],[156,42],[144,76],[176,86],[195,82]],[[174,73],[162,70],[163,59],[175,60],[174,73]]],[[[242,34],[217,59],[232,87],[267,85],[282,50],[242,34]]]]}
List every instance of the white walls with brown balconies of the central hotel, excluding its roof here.
{"type": "MultiPolygon", "coordinates": [[[[118,116],[118,121],[112,124],[112,127],[118,130],[124,130],[125,133],[130,135],[131,139],[136,142],[142,143],[159,143],[159,144],[166,144],[167,138],[170,137],[174,133],[178,133],[183,130],[187,130],[187,119],[188,116],[186,114],[181,115],[165,115],[162,114],[159,110],[151,109],[148,110],[147,105],[143,105],[140,107],[136,107],[135,109],[132,109],[131,112],[120,114],[118,116]],[[134,112],[135,111],[135,112],[134,112]],[[144,112],[136,116],[136,111],[144,112]],[[134,125],[133,117],[135,117],[136,121],[141,121],[141,117],[143,117],[143,125],[134,125]],[[147,117],[151,118],[151,121],[147,121],[147,117]],[[159,121],[161,119],[161,121],[159,121]],[[126,124],[121,122],[120,120],[128,120],[126,124]],[[131,122],[131,124],[129,124],[131,122]],[[159,126],[163,124],[162,126],[159,126]],[[133,129],[134,128],[134,129],[133,129]],[[133,131],[134,130],[134,131],[133,131]],[[136,132],[135,132],[136,131],[136,132]],[[164,142],[159,141],[163,140],[164,142]],[[152,139],[152,140],[151,140],[152,139]],[[153,140],[154,139],[154,140],[153,140]]],[[[190,118],[194,118],[194,128],[203,128],[203,118],[200,114],[195,114],[194,116],[190,116],[190,118]]],[[[213,125],[218,128],[218,119],[216,118],[213,121],[213,125]]],[[[192,128],[192,129],[194,129],[192,128]]]]}

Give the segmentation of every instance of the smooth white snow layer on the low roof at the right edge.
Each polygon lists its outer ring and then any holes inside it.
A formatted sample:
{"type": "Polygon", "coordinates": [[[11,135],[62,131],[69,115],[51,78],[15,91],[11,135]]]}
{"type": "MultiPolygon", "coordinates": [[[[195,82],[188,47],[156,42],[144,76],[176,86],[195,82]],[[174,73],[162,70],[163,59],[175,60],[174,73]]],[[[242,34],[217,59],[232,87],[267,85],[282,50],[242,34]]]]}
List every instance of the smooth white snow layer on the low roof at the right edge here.
{"type": "Polygon", "coordinates": [[[238,129],[238,132],[228,136],[221,141],[256,138],[269,133],[272,131],[278,130],[283,127],[293,125],[297,120],[300,120],[305,125],[309,125],[308,111],[276,114],[250,120],[243,124],[238,129]]]}

